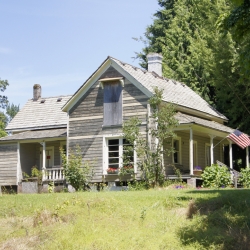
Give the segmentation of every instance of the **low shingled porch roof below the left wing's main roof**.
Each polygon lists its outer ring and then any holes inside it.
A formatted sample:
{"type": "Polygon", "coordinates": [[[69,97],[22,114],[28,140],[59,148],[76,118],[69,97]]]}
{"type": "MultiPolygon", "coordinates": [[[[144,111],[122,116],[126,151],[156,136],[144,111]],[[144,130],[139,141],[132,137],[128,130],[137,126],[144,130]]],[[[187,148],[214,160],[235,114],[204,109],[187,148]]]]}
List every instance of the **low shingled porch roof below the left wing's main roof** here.
{"type": "Polygon", "coordinates": [[[59,137],[66,137],[66,136],[67,136],[67,129],[66,128],[34,130],[34,131],[25,131],[22,133],[18,133],[18,134],[14,134],[14,135],[0,138],[0,142],[48,139],[48,138],[59,138],[59,137]]]}

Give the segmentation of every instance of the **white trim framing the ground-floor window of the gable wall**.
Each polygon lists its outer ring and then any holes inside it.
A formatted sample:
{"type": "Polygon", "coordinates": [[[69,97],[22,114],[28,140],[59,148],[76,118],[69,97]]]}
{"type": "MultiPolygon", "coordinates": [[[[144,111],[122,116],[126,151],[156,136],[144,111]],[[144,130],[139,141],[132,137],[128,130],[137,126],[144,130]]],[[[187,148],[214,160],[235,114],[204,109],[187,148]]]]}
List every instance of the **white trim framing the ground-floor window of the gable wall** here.
{"type": "MultiPolygon", "coordinates": [[[[124,137],[122,136],[122,134],[118,134],[118,135],[105,135],[103,137],[103,162],[102,162],[102,166],[103,166],[103,175],[107,175],[107,169],[108,169],[108,140],[112,140],[112,139],[119,139],[119,167],[122,167],[123,164],[123,159],[122,159],[122,152],[123,152],[123,139],[124,137]]],[[[136,142],[135,142],[136,144],[136,142]]],[[[136,151],[134,149],[134,172],[135,174],[137,173],[137,154],[136,151]]]]}

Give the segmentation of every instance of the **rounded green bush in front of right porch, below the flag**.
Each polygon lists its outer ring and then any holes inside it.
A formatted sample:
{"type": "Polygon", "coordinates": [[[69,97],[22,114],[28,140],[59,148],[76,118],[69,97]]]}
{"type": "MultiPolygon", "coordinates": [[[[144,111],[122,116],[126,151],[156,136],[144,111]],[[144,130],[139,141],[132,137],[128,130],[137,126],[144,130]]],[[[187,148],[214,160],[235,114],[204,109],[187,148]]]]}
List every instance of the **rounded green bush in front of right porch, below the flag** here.
{"type": "Polygon", "coordinates": [[[206,167],[201,177],[204,187],[220,188],[227,187],[232,183],[227,167],[221,167],[217,164],[206,167]]]}

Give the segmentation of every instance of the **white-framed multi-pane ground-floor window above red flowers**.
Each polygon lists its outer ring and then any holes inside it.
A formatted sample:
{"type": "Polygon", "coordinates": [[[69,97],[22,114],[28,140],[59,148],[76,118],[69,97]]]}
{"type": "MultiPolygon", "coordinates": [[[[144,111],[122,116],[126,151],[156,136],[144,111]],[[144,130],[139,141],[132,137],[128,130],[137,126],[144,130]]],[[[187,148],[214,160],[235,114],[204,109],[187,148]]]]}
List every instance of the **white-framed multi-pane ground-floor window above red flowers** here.
{"type": "Polygon", "coordinates": [[[106,152],[104,156],[105,171],[118,170],[123,166],[134,167],[134,147],[123,138],[106,139],[106,152]]]}

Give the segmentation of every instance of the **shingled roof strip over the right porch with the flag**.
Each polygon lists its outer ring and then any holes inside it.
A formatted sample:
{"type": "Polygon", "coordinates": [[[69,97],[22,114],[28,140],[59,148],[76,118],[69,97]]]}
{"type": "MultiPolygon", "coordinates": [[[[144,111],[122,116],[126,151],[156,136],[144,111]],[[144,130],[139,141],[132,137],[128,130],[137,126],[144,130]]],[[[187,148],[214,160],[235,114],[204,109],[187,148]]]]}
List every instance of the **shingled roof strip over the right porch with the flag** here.
{"type": "Polygon", "coordinates": [[[205,120],[199,117],[183,114],[181,112],[176,113],[175,118],[179,121],[180,124],[197,124],[207,128],[215,129],[218,131],[226,132],[228,134],[232,133],[234,129],[227,127],[221,123],[215,121],[205,120]]]}

